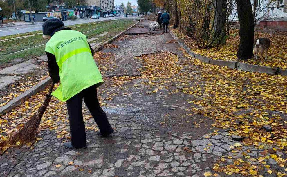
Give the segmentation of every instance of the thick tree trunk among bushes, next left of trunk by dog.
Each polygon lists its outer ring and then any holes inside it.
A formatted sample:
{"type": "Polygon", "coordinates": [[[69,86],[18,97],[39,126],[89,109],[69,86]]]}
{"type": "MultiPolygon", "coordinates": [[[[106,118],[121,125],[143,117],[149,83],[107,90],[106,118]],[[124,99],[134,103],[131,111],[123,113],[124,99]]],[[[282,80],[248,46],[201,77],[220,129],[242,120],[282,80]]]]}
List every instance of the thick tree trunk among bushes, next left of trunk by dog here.
{"type": "Polygon", "coordinates": [[[214,36],[216,39],[219,39],[219,44],[225,44],[227,1],[216,0],[215,6],[214,36]]]}

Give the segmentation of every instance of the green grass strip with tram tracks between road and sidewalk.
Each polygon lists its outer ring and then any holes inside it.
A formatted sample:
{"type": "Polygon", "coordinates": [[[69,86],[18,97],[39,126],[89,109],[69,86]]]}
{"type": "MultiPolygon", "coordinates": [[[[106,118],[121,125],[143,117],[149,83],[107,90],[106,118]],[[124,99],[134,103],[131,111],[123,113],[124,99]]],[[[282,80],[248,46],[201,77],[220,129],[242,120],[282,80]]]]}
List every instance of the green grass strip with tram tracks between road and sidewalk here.
{"type": "MultiPolygon", "coordinates": [[[[123,31],[129,28],[134,23],[136,23],[136,21],[134,20],[112,20],[112,21],[101,21],[101,22],[87,23],[87,24],[77,24],[77,25],[68,26],[68,27],[72,28],[73,30],[85,32],[84,34],[87,36],[87,38],[91,38],[102,32],[123,31]]],[[[41,31],[33,32],[33,34],[37,34],[40,32],[41,31]]],[[[11,39],[11,38],[19,37],[19,36],[27,36],[31,34],[32,33],[25,33],[21,35],[5,36],[5,37],[0,37],[0,40],[11,39]]],[[[105,40],[106,38],[112,38],[112,37],[110,35],[105,35],[103,37],[100,37],[100,39],[106,41],[105,40]]],[[[42,46],[39,46],[39,45],[45,44],[46,42],[47,42],[47,39],[43,39],[42,35],[35,35],[35,36],[25,37],[24,39],[17,39],[13,41],[6,41],[6,42],[0,43],[0,49],[1,49],[0,50],[0,67],[3,64],[9,64],[15,59],[21,59],[21,61],[26,61],[28,59],[32,59],[32,58],[44,55],[45,45],[42,45],[42,46]],[[35,46],[39,46],[39,47],[35,47],[35,46]],[[13,53],[13,52],[17,52],[17,51],[30,48],[30,47],[34,47],[34,48],[24,50],[18,53],[13,53]]]]}

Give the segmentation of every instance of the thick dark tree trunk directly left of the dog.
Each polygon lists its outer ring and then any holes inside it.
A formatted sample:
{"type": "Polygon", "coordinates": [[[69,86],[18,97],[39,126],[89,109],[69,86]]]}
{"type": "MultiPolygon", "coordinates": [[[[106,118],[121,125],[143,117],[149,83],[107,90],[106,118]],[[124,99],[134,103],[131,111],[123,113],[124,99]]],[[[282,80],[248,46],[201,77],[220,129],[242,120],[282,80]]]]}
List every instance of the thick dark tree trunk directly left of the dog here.
{"type": "Polygon", "coordinates": [[[254,42],[254,18],[250,0],[235,0],[237,3],[237,13],[239,18],[239,48],[237,57],[242,60],[253,58],[254,42]]]}

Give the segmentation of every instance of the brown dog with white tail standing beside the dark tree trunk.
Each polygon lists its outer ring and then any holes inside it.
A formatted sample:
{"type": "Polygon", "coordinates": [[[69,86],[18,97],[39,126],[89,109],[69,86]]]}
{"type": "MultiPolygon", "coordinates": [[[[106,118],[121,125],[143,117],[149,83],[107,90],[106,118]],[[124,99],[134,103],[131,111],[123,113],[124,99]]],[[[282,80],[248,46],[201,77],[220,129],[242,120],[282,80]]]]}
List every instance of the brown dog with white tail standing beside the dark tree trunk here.
{"type": "Polygon", "coordinates": [[[266,37],[260,37],[257,38],[256,43],[254,45],[254,55],[255,55],[255,62],[257,60],[257,56],[258,56],[258,52],[260,52],[260,62],[262,63],[262,56],[263,53],[265,52],[265,59],[267,59],[267,55],[268,55],[268,50],[269,47],[271,45],[271,41],[270,39],[266,38],[266,37]]]}

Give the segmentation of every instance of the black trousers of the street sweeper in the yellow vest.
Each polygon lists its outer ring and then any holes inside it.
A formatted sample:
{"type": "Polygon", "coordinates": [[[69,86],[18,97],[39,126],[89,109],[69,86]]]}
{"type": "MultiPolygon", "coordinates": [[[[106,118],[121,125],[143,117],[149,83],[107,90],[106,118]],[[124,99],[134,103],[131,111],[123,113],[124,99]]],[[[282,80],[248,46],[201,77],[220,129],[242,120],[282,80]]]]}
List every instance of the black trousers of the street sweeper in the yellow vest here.
{"type": "Polygon", "coordinates": [[[95,122],[98,124],[101,133],[109,134],[113,132],[106,113],[100,107],[97,97],[97,88],[93,85],[82,90],[67,101],[71,140],[74,147],[86,146],[86,129],[82,114],[83,98],[95,122]]]}

